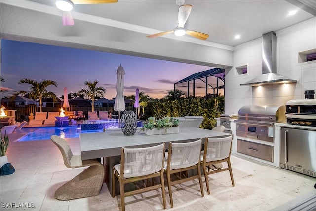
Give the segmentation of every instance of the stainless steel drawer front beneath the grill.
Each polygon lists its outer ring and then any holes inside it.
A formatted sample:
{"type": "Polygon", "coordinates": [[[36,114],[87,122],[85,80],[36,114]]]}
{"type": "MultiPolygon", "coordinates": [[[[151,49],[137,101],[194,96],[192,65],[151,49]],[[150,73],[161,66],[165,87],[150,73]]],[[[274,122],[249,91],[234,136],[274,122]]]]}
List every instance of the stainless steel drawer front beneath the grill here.
{"type": "Polygon", "coordinates": [[[237,139],[237,152],[273,162],[273,146],[237,139]]]}

